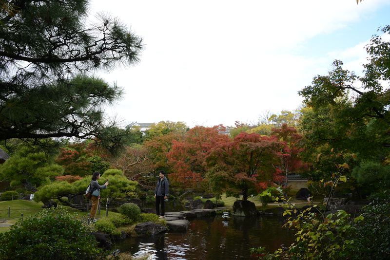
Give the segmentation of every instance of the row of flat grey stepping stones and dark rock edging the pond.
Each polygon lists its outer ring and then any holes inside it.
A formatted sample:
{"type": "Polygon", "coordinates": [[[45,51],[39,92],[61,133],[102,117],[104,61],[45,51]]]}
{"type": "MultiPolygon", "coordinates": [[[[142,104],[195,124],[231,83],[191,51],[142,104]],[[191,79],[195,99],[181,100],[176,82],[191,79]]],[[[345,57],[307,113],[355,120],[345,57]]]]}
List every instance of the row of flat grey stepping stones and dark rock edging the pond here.
{"type": "Polygon", "coordinates": [[[152,222],[139,223],[135,227],[138,236],[153,236],[164,232],[185,232],[190,225],[189,220],[195,218],[212,217],[217,212],[228,211],[227,208],[194,209],[191,211],[165,212],[167,227],[152,222]]]}

